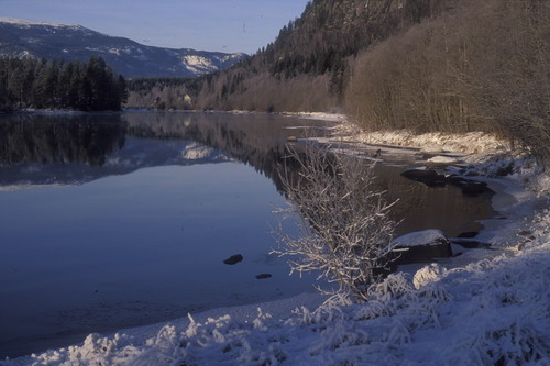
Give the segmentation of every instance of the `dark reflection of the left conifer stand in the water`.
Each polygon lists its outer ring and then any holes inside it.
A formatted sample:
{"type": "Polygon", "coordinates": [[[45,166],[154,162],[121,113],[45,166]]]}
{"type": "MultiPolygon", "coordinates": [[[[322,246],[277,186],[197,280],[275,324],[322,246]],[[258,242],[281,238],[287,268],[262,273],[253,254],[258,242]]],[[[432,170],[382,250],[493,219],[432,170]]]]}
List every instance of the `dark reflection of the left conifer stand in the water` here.
{"type": "Polygon", "coordinates": [[[122,148],[124,134],[119,114],[9,115],[0,120],[0,164],[101,166],[122,148]]]}

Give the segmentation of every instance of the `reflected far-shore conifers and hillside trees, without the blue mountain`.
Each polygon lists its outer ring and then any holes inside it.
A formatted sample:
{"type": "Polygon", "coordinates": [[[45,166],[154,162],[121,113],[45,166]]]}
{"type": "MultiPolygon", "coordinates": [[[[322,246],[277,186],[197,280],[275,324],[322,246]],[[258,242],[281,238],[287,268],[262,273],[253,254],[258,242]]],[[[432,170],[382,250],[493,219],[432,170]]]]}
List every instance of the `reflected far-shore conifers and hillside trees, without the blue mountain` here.
{"type": "Polygon", "coordinates": [[[13,114],[0,119],[0,164],[102,166],[110,155],[122,148],[127,134],[140,140],[205,144],[251,165],[280,187],[276,168],[285,153],[284,142],[292,131],[282,129],[280,123],[274,122],[270,115],[158,112],[13,114]]]}

